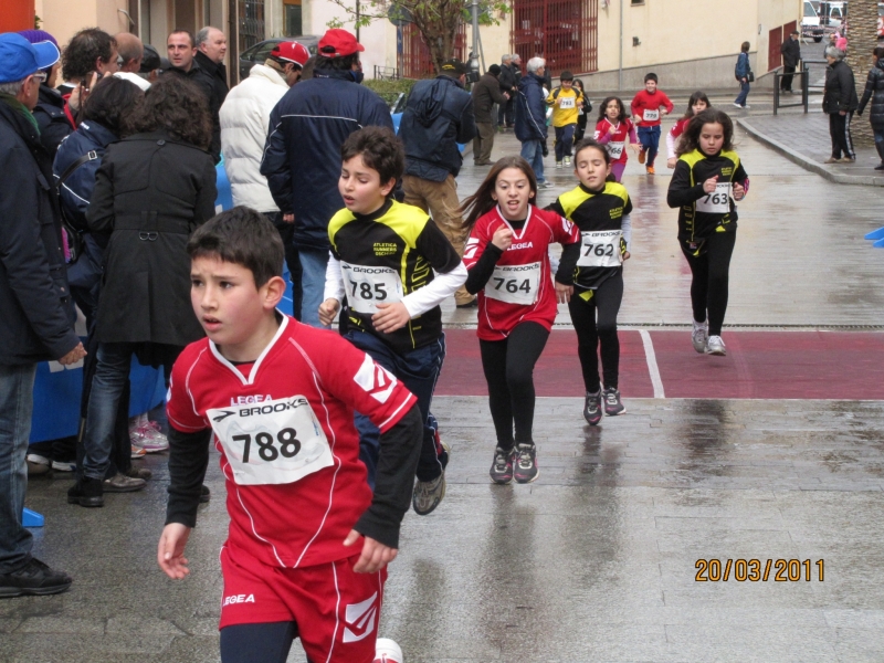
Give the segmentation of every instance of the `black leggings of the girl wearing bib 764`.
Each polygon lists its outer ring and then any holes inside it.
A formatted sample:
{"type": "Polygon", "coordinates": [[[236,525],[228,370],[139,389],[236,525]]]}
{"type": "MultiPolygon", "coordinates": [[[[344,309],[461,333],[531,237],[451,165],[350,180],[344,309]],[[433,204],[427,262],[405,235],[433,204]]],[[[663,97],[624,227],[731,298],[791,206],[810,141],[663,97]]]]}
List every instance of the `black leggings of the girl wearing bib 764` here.
{"type": "Polygon", "coordinates": [[[497,446],[534,441],[534,365],[540,358],[549,332],[538,323],[522,323],[504,340],[478,341],[482,368],[488,382],[488,404],[497,432],[497,446]]]}

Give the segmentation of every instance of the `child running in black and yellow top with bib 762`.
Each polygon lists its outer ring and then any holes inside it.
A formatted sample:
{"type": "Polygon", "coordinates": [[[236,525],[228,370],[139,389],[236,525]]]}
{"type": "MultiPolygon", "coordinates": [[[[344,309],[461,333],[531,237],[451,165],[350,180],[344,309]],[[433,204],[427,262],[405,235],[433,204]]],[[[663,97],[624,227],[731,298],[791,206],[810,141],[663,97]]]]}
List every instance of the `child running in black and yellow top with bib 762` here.
{"type": "Polygon", "coordinates": [[[572,221],[581,235],[579,243],[565,245],[559,274],[573,274],[573,296],[568,309],[577,332],[577,354],[586,387],[583,417],[596,425],[601,421],[602,399],[607,415],[627,411],[618,388],[617,315],[623,299],[623,261],[630,255],[632,201],[622,185],[608,181],[612,178],[611,155],[597,140],[585,138],[577,144],[575,166],[580,186],[559,196],[546,209],[572,221]],[[599,380],[600,346],[603,391],[599,380]]]}

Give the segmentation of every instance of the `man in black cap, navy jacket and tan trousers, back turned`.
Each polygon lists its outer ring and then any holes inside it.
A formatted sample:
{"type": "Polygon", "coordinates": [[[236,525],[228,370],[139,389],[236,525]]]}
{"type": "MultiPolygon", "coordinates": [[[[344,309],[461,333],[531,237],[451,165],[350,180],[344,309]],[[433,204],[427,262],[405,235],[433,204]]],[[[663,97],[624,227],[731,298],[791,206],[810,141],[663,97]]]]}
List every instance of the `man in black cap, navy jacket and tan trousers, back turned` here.
{"type": "MultiPolygon", "coordinates": [[[[453,57],[442,64],[435,78],[418,81],[399,125],[406,146],[402,188],[407,204],[428,212],[451,244],[463,255],[467,233],[457,212],[457,183],[463,157],[457,144],[476,136],[473,97],[464,90],[466,65],[453,57]]],[[[476,298],[461,287],[454,293],[457,308],[476,305],[476,298]]]]}

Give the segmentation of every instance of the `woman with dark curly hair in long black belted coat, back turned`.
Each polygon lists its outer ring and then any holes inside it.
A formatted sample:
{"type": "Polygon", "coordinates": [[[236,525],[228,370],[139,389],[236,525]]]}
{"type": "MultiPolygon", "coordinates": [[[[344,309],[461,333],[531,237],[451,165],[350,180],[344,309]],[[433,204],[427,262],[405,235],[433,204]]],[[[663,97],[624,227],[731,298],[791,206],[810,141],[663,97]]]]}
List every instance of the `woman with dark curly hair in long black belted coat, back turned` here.
{"type": "Polygon", "coordinates": [[[214,214],[215,169],[207,151],[211,116],[202,92],[162,76],[145,95],[124,135],[108,146],[95,178],[86,222],[110,232],[95,335],[97,366],[83,438],[84,457],[67,499],[101,506],[103,493],[131,492],[144,481],[105,480],[114,420],[134,354],[161,365],[166,379],[189,343],[202,337],[190,305],[186,245],[214,214]]]}

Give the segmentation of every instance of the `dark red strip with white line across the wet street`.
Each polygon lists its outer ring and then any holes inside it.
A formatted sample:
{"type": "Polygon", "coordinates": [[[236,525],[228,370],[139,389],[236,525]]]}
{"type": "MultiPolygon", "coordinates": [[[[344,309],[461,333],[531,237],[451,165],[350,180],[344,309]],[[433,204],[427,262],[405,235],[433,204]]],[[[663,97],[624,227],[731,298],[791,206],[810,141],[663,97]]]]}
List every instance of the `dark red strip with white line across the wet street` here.
{"type": "MultiPolygon", "coordinates": [[[[698,355],[687,330],[650,332],[666,398],[884,399],[884,334],[725,332],[727,357],[698,355]]],[[[439,396],[486,396],[473,329],[445,332],[439,396]]],[[[577,337],[555,330],[534,371],[537,396],[583,393],[577,337]]],[[[639,332],[620,332],[623,398],[651,398],[639,332]]]]}

